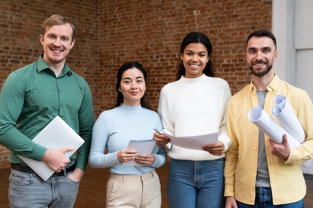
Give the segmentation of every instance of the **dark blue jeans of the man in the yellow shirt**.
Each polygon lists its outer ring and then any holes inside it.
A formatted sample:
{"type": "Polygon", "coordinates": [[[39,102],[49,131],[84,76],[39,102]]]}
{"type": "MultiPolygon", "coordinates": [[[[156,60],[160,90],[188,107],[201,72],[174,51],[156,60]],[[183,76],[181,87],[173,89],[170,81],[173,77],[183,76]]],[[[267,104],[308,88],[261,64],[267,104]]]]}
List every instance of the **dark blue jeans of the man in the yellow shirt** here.
{"type": "Polygon", "coordinates": [[[303,199],[285,205],[273,205],[270,188],[255,188],[254,205],[246,205],[237,201],[238,208],[304,208],[303,199]]]}

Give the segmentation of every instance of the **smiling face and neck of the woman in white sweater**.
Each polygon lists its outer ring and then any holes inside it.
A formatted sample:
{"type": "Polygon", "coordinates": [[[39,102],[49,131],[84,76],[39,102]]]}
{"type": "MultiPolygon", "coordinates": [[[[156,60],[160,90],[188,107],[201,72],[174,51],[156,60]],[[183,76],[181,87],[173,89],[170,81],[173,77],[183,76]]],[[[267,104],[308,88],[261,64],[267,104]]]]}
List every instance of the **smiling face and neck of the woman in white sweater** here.
{"type": "Polygon", "coordinates": [[[209,57],[202,43],[189,43],[180,54],[180,59],[186,70],[185,77],[196,78],[202,76],[202,70],[209,57]]]}

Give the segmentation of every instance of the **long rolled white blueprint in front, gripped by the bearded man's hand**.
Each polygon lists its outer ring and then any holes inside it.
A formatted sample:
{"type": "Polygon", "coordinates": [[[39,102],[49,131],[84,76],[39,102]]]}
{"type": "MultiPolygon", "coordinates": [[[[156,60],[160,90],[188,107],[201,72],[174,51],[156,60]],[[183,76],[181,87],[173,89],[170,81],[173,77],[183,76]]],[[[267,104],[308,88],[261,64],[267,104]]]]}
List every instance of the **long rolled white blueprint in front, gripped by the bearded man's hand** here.
{"type": "MultiPolygon", "coordinates": [[[[282,135],[286,134],[290,149],[294,149],[301,145],[300,142],[292,137],[260,107],[252,108],[248,113],[248,119],[277,144],[282,143],[282,135]]],[[[303,167],[308,167],[310,164],[311,160],[308,160],[301,165],[303,167]]]]}

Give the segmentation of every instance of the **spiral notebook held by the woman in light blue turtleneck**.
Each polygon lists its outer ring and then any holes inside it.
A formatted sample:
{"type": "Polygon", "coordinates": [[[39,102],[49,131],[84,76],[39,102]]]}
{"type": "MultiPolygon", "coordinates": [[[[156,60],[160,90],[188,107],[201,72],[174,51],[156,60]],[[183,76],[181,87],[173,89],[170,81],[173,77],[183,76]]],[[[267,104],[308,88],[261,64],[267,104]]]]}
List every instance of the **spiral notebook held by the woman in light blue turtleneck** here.
{"type": "MultiPolygon", "coordinates": [[[[151,154],[155,140],[129,140],[127,148],[129,150],[136,150],[139,155],[151,154]]],[[[141,166],[134,160],[122,163],[123,166],[141,166]]]]}

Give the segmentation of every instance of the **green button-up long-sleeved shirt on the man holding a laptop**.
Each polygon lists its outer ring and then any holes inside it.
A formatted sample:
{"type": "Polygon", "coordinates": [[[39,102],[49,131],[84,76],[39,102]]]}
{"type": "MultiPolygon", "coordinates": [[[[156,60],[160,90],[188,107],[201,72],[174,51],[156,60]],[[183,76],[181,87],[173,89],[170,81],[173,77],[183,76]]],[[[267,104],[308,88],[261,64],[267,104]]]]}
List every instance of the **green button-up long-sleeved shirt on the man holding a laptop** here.
{"type": "MultiPolygon", "coordinates": [[[[77,151],[76,168],[85,170],[94,124],[91,92],[86,81],[65,63],[58,77],[40,55],[37,62],[10,73],[0,92],[0,143],[17,154],[41,160],[45,147],[31,140],[60,116],[85,141],[77,151]]],[[[75,160],[73,154],[70,160],[75,160]]]]}

